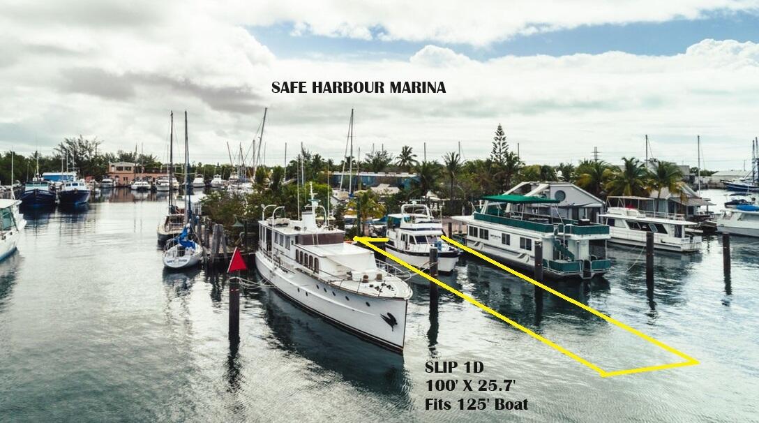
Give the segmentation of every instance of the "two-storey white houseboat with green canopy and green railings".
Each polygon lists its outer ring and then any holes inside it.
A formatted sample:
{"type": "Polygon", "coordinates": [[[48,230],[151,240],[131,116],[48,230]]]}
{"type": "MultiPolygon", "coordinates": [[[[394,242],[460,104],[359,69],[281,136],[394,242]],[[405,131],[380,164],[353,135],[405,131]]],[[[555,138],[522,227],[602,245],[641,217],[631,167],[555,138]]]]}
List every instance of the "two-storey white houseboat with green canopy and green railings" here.
{"type": "Polygon", "coordinates": [[[609,226],[559,214],[559,200],[516,194],[482,198],[471,216],[453,216],[467,225],[466,245],[505,264],[532,270],[535,243],[543,245],[543,275],[548,279],[591,279],[609,270],[609,226]],[[548,206],[548,213],[534,213],[548,206]]]}

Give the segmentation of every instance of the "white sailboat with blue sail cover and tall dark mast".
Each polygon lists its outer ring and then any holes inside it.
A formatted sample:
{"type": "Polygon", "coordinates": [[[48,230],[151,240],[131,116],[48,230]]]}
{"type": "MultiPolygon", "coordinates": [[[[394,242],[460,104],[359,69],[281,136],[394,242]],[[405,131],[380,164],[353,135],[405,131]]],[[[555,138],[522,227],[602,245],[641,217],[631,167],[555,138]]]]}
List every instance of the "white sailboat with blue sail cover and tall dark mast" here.
{"type": "MultiPolygon", "coordinates": [[[[173,121],[172,121],[173,122],[173,121]]],[[[190,155],[187,153],[187,112],[184,112],[184,174],[190,169],[190,155]]],[[[184,195],[184,229],[175,238],[166,242],[163,250],[163,266],[169,269],[187,269],[200,263],[203,258],[203,246],[192,232],[192,207],[190,204],[191,182],[184,178],[186,191],[184,195]]],[[[169,196],[170,197],[170,196],[169,196]]]]}

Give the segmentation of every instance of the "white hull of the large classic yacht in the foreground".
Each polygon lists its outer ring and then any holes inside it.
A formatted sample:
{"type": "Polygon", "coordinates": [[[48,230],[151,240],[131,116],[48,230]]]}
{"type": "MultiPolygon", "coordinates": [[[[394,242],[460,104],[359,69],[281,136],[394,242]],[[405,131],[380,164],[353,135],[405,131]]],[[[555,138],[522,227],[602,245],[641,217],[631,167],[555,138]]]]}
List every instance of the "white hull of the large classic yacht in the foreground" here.
{"type": "Polygon", "coordinates": [[[408,300],[360,295],[329,286],[299,271],[283,270],[262,251],[256,253],[256,266],[264,279],[309,311],[373,343],[403,350],[408,300]]]}

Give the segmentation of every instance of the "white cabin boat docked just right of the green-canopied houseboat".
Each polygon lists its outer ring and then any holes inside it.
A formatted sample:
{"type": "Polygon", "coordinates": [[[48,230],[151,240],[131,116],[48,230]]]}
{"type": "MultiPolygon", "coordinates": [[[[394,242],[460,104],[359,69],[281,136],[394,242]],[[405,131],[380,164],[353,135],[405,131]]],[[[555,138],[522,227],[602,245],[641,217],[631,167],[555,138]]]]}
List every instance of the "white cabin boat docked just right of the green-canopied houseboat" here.
{"type": "Polygon", "coordinates": [[[646,245],[646,233],[653,232],[653,248],[681,253],[701,251],[701,236],[689,231],[698,223],[688,222],[685,216],[645,210],[647,197],[607,197],[606,213],[601,223],[611,230],[610,242],[622,245],[646,245]]]}

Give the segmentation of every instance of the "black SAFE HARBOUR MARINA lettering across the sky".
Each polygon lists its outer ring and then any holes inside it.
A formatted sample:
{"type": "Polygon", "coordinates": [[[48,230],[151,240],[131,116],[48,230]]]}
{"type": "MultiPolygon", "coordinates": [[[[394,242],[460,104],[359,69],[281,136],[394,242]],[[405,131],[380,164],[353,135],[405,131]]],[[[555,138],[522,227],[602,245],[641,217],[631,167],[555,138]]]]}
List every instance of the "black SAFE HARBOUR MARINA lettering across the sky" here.
{"type": "MultiPolygon", "coordinates": [[[[273,81],[272,93],[308,93],[306,81],[304,80],[286,80],[273,81]]],[[[389,84],[381,80],[367,81],[340,81],[340,80],[315,80],[311,83],[311,93],[318,94],[383,94],[383,93],[405,93],[405,94],[427,94],[427,93],[446,93],[446,84],[442,81],[420,81],[420,80],[394,80],[389,84]],[[388,87],[389,86],[389,87],[388,87]],[[389,89],[388,89],[389,88],[389,89]]]]}

